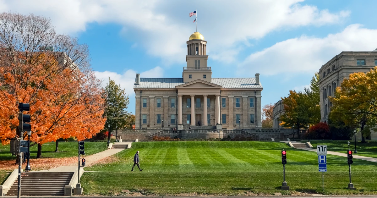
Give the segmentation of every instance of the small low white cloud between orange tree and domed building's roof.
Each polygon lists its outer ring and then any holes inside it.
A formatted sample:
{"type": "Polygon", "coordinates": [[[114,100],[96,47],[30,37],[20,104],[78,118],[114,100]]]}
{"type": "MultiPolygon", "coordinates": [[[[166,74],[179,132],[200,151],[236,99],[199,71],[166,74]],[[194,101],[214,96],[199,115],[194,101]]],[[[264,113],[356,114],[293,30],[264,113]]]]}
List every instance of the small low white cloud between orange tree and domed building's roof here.
{"type": "MultiPolygon", "coordinates": [[[[162,74],[164,73],[163,69],[159,66],[150,69],[148,71],[141,72],[140,77],[141,78],[159,78],[162,77],[162,74]]],[[[106,83],[109,82],[109,77],[111,80],[114,80],[116,84],[120,84],[120,87],[126,91],[126,94],[129,96],[135,95],[135,92],[133,91],[133,84],[135,83],[136,78],[136,71],[133,71],[132,69],[129,69],[123,74],[118,74],[116,72],[110,72],[110,71],[104,71],[104,72],[95,72],[95,75],[98,79],[102,80],[102,86],[106,86],[106,83]]],[[[130,97],[130,100],[133,101],[134,98],[130,97]]]]}

